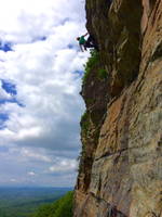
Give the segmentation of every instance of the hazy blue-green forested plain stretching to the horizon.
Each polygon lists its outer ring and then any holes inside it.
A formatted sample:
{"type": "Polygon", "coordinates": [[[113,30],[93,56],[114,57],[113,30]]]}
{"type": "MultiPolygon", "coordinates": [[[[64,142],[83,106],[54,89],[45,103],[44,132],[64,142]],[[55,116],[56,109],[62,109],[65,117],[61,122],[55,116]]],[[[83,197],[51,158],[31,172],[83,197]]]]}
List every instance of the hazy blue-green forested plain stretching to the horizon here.
{"type": "Polygon", "coordinates": [[[53,203],[70,188],[0,188],[0,217],[32,217],[42,204],[53,203]]]}

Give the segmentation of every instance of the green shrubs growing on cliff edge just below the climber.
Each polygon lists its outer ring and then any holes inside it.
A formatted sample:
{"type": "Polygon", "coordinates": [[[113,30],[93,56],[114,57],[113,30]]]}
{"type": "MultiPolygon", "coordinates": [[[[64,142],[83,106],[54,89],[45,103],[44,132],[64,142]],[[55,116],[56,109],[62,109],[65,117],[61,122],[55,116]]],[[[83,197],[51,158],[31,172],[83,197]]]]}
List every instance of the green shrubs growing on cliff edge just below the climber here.
{"type": "Polygon", "coordinates": [[[84,65],[85,73],[82,78],[83,84],[85,84],[91,71],[98,64],[99,62],[99,53],[96,50],[91,51],[91,56],[89,58],[86,64],[84,65]]]}

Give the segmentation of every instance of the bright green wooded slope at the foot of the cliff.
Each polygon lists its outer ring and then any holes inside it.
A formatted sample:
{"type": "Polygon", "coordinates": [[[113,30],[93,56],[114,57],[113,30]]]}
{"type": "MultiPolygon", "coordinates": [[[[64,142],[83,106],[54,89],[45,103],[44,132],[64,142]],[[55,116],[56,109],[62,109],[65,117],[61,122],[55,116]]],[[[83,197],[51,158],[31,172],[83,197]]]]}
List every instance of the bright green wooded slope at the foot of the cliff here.
{"type": "Polygon", "coordinates": [[[72,217],[73,192],[70,191],[53,204],[39,207],[32,217],[72,217]]]}

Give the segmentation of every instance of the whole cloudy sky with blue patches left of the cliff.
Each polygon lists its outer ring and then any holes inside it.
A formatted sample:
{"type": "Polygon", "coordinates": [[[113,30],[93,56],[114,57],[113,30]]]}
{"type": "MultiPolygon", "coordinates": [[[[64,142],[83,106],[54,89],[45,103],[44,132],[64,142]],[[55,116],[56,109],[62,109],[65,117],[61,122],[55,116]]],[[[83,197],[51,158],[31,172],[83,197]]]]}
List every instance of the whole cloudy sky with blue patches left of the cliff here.
{"type": "Polygon", "coordinates": [[[69,187],[80,149],[83,0],[0,7],[0,186],[69,187]]]}

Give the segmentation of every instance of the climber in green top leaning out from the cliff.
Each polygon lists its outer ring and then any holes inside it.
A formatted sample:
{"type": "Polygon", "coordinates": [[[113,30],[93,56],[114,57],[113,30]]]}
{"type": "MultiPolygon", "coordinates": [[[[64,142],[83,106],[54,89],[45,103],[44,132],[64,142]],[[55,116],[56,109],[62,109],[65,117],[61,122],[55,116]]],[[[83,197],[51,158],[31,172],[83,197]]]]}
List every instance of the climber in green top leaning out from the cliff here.
{"type": "Polygon", "coordinates": [[[94,48],[94,49],[98,50],[98,47],[97,47],[93,36],[90,35],[87,37],[87,39],[84,38],[87,35],[89,34],[86,33],[85,35],[77,38],[77,40],[79,41],[81,51],[84,52],[87,50],[87,48],[94,48]]]}

